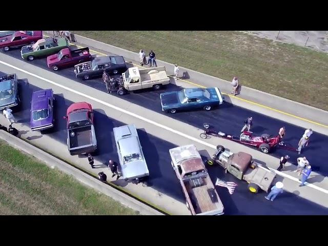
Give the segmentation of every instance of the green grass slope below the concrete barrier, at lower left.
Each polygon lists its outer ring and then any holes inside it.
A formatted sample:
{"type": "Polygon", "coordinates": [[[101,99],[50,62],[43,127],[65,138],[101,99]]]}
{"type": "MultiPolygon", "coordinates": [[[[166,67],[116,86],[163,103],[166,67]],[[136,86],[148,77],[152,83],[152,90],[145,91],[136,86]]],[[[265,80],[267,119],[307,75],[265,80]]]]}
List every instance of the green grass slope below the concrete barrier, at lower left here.
{"type": "Polygon", "coordinates": [[[136,215],[0,140],[0,215],[136,215]]]}

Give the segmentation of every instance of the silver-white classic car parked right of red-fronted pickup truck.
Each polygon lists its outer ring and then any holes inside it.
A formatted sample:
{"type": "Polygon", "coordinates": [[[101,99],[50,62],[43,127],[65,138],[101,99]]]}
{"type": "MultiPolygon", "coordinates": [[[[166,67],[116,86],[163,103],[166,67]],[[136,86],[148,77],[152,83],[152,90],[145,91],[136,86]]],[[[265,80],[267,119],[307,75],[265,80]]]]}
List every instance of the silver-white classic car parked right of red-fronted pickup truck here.
{"type": "Polygon", "coordinates": [[[135,126],[114,127],[113,132],[123,179],[138,183],[148,177],[147,163],[135,126]]]}

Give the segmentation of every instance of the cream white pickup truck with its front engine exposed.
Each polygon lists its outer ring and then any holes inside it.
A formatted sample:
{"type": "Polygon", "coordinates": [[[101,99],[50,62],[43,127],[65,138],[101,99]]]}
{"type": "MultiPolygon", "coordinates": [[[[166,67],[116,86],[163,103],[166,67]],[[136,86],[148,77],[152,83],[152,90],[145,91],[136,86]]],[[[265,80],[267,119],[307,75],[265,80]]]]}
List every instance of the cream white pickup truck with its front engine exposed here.
{"type": "Polygon", "coordinates": [[[118,95],[125,95],[128,91],[153,88],[159,90],[163,85],[170,84],[165,67],[147,68],[139,70],[137,67],[129,68],[122,73],[122,80],[118,81],[112,89],[117,89],[118,95]]]}

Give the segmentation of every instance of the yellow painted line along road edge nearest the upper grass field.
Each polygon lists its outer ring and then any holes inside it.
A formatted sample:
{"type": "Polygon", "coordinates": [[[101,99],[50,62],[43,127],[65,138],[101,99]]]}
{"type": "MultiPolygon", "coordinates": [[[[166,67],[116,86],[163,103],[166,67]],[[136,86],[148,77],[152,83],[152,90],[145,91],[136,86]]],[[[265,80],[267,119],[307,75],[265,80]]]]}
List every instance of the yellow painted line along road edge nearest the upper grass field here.
{"type": "MultiPolygon", "coordinates": [[[[49,37],[48,35],[44,35],[44,36],[49,37]]],[[[70,44],[70,45],[72,45],[72,44],[70,44]]],[[[84,48],[84,47],[79,46],[79,45],[75,45],[75,46],[77,46],[77,47],[79,47],[79,48],[84,48]]],[[[100,53],[100,52],[95,51],[95,50],[90,50],[90,51],[91,51],[91,52],[94,52],[94,53],[97,53],[97,54],[100,54],[100,55],[106,55],[106,54],[104,54],[104,53],[100,53]]],[[[129,62],[127,62],[127,63],[129,63],[129,62]]],[[[141,67],[140,65],[137,65],[137,64],[134,64],[134,63],[129,63],[129,64],[132,64],[133,66],[137,66],[137,67],[140,67],[140,68],[144,68],[144,67],[141,67]]],[[[171,78],[173,78],[173,76],[171,76],[171,75],[168,75],[168,76],[171,77],[171,78]]],[[[191,85],[194,85],[194,86],[197,86],[197,87],[200,87],[200,88],[206,88],[206,87],[204,87],[204,86],[202,86],[202,85],[198,85],[198,84],[196,84],[196,83],[193,83],[192,81],[189,81],[189,80],[187,80],[187,79],[179,79],[179,80],[185,81],[185,82],[187,82],[187,83],[189,83],[189,84],[191,84],[191,85]]],[[[321,124],[321,123],[319,123],[319,122],[315,122],[315,121],[310,120],[310,119],[305,119],[305,118],[302,118],[302,117],[296,116],[296,115],[294,115],[294,114],[290,114],[290,113],[287,113],[287,112],[284,112],[284,111],[281,111],[281,110],[278,110],[278,109],[271,108],[271,107],[269,107],[269,106],[265,106],[265,105],[262,105],[262,104],[258,104],[258,103],[255,103],[255,101],[251,101],[251,100],[243,99],[243,98],[240,98],[240,97],[237,97],[237,96],[233,96],[233,95],[230,95],[230,94],[227,94],[227,93],[224,93],[224,92],[222,92],[222,94],[223,94],[223,95],[229,95],[229,96],[231,96],[231,97],[233,97],[233,98],[235,98],[235,99],[238,99],[238,100],[241,100],[241,101],[245,101],[246,103],[253,104],[253,105],[256,105],[256,106],[259,106],[259,107],[265,108],[265,109],[269,109],[269,110],[275,111],[275,112],[277,112],[277,113],[281,113],[281,114],[284,114],[284,115],[288,115],[288,116],[291,116],[291,117],[294,117],[294,118],[297,118],[297,119],[300,119],[300,120],[303,120],[303,121],[306,121],[306,122],[309,122],[309,123],[312,123],[312,124],[315,124],[315,125],[318,125],[318,126],[321,126],[321,127],[326,127],[326,128],[328,128],[327,125],[321,124]]]]}

